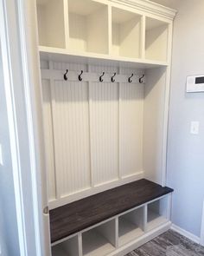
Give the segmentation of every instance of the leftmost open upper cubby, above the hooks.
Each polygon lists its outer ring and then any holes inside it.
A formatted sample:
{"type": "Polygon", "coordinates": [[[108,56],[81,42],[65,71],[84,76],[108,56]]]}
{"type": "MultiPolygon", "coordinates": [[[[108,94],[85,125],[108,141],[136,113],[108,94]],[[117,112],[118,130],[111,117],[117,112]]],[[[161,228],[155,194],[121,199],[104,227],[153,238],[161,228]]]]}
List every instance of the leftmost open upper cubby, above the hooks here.
{"type": "Polygon", "coordinates": [[[65,48],[63,0],[37,0],[38,35],[41,46],[65,48]]]}

